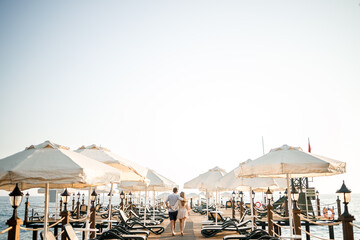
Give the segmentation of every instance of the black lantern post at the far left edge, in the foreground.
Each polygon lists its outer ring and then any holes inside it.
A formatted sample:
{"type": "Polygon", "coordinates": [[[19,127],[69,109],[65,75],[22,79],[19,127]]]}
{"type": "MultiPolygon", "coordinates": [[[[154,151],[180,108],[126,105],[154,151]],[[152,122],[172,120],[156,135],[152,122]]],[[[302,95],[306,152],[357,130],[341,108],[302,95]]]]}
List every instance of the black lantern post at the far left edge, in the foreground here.
{"type": "Polygon", "coordinates": [[[23,195],[24,194],[20,191],[17,184],[14,190],[9,194],[10,204],[13,207],[13,215],[6,222],[9,227],[12,227],[12,229],[8,232],[8,239],[10,240],[18,240],[20,238],[20,225],[23,222],[20,218],[17,217],[16,209],[20,206],[23,195]]]}

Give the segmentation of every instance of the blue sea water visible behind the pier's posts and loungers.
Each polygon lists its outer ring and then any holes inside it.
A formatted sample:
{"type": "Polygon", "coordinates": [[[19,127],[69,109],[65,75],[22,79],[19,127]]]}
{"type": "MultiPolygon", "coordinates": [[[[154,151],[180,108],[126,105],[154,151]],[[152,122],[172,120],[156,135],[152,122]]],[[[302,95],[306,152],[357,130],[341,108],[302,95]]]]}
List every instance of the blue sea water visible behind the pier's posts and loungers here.
{"type": "MultiPolygon", "coordinates": [[[[105,197],[107,198],[107,197],[105,197]]],[[[334,194],[331,195],[327,195],[327,194],[322,194],[320,195],[320,199],[321,199],[321,204],[331,204],[330,207],[334,206],[336,208],[336,196],[334,194]]],[[[105,200],[107,201],[107,200],[105,200]]],[[[43,196],[30,196],[29,198],[29,202],[30,202],[30,206],[34,207],[36,209],[37,212],[39,212],[40,214],[43,212],[42,207],[44,206],[44,197],[43,196]]],[[[119,200],[118,199],[114,199],[113,200],[114,204],[119,204],[119,200]]],[[[21,204],[21,206],[18,209],[18,216],[20,218],[24,218],[24,200],[23,203],[21,204]]],[[[54,203],[50,203],[50,214],[54,214],[55,213],[55,204],[54,203]]],[[[70,205],[71,207],[71,205],[70,205]]],[[[322,209],[323,206],[321,206],[322,209]]],[[[360,225],[360,194],[352,194],[352,199],[351,202],[349,204],[349,212],[350,214],[355,216],[355,221],[354,223],[357,225],[360,225]]],[[[343,206],[342,206],[343,208],[343,206]]],[[[335,210],[335,213],[337,211],[335,210]]],[[[12,208],[10,206],[9,203],[9,197],[6,196],[0,196],[0,231],[7,228],[6,225],[6,220],[9,219],[12,216],[12,208]]],[[[335,218],[337,218],[337,214],[335,216],[335,218]]],[[[329,239],[329,230],[327,226],[311,226],[310,228],[311,230],[311,234],[315,235],[315,236],[319,236],[322,238],[326,238],[329,239]]],[[[342,239],[342,226],[335,226],[334,227],[334,232],[335,232],[335,239],[342,239]]],[[[286,233],[286,230],[283,230],[283,236],[287,236],[288,234],[286,233]]],[[[360,229],[354,227],[354,237],[355,239],[360,239],[360,229]]],[[[5,240],[7,239],[7,233],[5,234],[1,234],[0,235],[0,240],[5,240]]],[[[30,231],[23,231],[21,230],[20,232],[20,239],[22,240],[26,240],[26,239],[32,239],[32,232],[30,231]]],[[[40,239],[40,237],[39,237],[40,239]]],[[[303,239],[305,239],[305,235],[303,235],[303,239]]],[[[311,238],[311,239],[316,239],[316,238],[311,238]]]]}

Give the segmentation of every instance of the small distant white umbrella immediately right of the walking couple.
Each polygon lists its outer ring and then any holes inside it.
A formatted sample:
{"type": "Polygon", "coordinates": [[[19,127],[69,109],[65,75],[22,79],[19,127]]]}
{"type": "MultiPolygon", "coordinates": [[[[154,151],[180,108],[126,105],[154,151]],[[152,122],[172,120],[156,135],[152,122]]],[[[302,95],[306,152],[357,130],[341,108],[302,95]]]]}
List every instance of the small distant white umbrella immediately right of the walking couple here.
{"type": "MultiPolygon", "coordinates": [[[[208,192],[216,192],[216,204],[215,208],[217,210],[217,182],[226,174],[224,169],[219,167],[214,167],[209,169],[209,171],[200,174],[196,178],[186,182],[184,184],[184,188],[188,189],[199,189],[200,191],[206,191],[206,208],[207,208],[207,215],[208,215],[208,208],[209,208],[209,197],[208,192]]],[[[217,218],[216,218],[217,224],[217,218]]]]}

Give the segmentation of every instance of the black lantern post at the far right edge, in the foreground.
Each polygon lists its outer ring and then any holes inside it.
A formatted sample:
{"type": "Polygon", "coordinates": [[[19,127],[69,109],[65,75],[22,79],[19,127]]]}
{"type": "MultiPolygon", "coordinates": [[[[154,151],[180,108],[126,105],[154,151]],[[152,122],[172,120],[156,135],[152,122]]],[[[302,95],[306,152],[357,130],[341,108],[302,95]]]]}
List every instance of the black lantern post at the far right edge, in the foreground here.
{"type": "Polygon", "coordinates": [[[351,190],[348,189],[343,181],[341,188],[336,191],[340,200],[344,203],[344,212],[340,216],[343,226],[343,238],[346,240],[354,240],[354,230],[352,222],[355,220],[354,216],[349,213],[348,204],[351,200],[351,190]]]}

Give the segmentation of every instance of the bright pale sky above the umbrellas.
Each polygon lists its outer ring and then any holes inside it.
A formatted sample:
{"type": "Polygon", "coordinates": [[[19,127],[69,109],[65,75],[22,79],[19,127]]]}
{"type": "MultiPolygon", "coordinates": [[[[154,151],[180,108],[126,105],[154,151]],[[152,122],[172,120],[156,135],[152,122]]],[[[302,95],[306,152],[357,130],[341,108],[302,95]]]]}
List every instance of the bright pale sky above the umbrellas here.
{"type": "MultiPolygon", "coordinates": [[[[1,1],[0,158],[99,144],[183,185],[283,144],[360,192],[359,0],[1,1]]],[[[4,192],[1,192],[4,194],[4,192]]]]}

